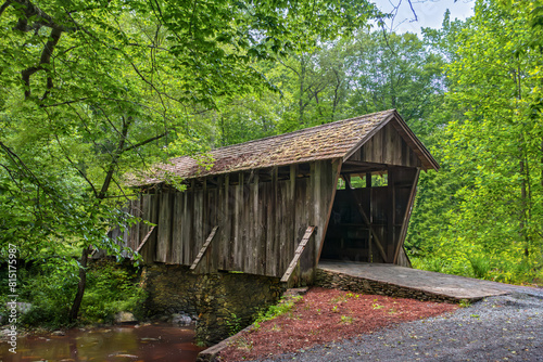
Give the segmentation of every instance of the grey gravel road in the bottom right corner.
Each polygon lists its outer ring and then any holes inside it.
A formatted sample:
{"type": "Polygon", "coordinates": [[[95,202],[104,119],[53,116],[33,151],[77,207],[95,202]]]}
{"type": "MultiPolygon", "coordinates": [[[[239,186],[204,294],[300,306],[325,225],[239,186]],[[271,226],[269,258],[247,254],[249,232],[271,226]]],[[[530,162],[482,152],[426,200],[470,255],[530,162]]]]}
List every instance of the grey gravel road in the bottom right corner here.
{"type": "Polygon", "coordinates": [[[543,289],[263,361],[543,361],[543,289]]]}

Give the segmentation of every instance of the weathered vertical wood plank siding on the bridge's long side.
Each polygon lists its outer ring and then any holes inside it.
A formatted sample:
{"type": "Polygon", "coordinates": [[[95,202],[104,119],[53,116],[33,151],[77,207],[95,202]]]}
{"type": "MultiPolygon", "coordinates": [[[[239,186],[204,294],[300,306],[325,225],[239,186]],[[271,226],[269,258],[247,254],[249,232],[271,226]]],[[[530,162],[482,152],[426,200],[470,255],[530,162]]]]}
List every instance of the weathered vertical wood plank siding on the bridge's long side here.
{"type": "MultiPolygon", "coordinates": [[[[282,276],[308,225],[317,227],[293,277],[313,280],[334,194],[339,160],[321,160],[255,174],[232,173],[192,181],[185,192],[164,190],[141,195],[134,209],[156,223],[141,254],[146,262],[190,266],[211,230],[217,234],[197,271],[242,271],[282,276]],[[311,170],[311,171],[310,171],[311,170]],[[213,182],[211,182],[213,181],[213,182]]],[[[138,225],[136,245],[148,225],[138,225]],[[139,229],[138,229],[139,228],[139,229]]],[[[131,245],[130,244],[130,245],[131,245]]],[[[137,247],[137,245],[136,245],[137,247]]]]}

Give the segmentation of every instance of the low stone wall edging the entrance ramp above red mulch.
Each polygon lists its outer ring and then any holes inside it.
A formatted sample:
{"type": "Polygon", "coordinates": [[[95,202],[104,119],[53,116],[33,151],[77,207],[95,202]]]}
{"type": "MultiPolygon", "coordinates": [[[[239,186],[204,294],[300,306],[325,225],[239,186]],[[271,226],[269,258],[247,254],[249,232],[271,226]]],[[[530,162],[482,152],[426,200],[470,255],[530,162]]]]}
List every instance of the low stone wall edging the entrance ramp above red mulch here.
{"type": "Polygon", "coordinates": [[[411,289],[348,274],[334,273],[323,269],[317,269],[315,285],[325,288],[336,288],[354,293],[376,294],[396,298],[412,298],[422,301],[444,301],[453,303],[459,301],[447,296],[432,294],[424,290],[411,289]]]}

